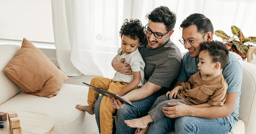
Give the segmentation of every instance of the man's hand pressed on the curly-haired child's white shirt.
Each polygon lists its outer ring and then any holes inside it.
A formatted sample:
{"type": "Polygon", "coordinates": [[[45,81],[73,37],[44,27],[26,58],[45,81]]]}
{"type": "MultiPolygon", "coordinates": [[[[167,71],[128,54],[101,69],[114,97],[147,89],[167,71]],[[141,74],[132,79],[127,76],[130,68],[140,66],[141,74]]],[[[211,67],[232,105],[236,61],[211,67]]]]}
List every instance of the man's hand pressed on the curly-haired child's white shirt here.
{"type": "Polygon", "coordinates": [[[121,59],[119,62],[113,64],[113,68],[122,74],[132,75],[131,66],[128,63],[124,62],[125,60],[121,59]]]}

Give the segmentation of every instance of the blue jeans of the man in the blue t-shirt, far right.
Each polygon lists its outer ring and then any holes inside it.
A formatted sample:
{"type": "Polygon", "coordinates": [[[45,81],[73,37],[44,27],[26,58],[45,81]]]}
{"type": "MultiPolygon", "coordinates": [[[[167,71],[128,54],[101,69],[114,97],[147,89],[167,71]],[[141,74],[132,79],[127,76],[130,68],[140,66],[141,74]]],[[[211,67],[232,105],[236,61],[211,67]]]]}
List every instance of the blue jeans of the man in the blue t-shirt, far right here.
{"type": "Polygon", "coordinates": [[[231,125],[226,117],[205,119],[183,116],[175,120],[175,118],[164,116],[155,123],[151,123],[148,133],[164,134],[173,128],[175,128],[175,134],[227,134],[231,131],[231,125]]]}

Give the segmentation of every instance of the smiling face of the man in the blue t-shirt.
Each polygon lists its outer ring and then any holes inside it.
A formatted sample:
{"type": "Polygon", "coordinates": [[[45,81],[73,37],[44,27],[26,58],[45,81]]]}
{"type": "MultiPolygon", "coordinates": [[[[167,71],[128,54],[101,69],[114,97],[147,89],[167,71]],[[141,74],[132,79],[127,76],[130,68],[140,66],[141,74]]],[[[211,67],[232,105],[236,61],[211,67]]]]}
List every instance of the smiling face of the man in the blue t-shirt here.
{"type": "Polygon", "coordinates": [[[194,57],[194,58],[198,57],[199,53],[200,53],[199,44],[203,41],[207,41],[207,38],[203,38],[204,36],[206,36],[206,34],[203,35],[203,36],[201,36],[201,35],[202,35],[202,33],[197,32],[196,25],[191,25],[191,26],[188,26],[188,27],[184,27],[182,29],[182,39],[183,39],[183,41],[193,41],[193,46],[192,47],[188,46],[187,43],[185,43],[185,46],[184,46],[185,49],[188,49],[189,54],[190,54],[191,57],[194,57]],[[198,38],[198,39],[196,39],[196,38],[198,38]]]}

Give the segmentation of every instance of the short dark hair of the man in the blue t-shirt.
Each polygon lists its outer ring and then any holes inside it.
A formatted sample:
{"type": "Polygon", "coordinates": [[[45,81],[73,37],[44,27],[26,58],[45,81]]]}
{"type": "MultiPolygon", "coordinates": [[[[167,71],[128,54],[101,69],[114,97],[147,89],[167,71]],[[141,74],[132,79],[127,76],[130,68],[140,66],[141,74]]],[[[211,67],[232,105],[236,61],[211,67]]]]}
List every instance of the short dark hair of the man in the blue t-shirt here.
{"type": "Polygon", "coordinates": [[[182,21],[180,27],[188,27],[191,25],[196,25],[198,33],[206,33],[212,32],[213,34],[213,26],[210,19],[206,18],[203,14],[193,13],[189,15],[186,19],[182,21]]]}

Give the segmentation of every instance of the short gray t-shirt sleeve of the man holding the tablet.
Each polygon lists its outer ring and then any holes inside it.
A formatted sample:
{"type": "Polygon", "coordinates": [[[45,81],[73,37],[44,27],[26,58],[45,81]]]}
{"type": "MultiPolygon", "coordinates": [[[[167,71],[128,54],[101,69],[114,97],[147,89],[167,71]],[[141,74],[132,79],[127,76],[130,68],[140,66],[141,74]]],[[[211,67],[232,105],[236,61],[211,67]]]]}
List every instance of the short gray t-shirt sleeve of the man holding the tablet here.
{"type": "Polygon", "coordinates": [[[169,88],[172,81],[178,77],[180,67],[180,62],[176,58],[166,58],[156,66],[148,81],[169,88]]]}

